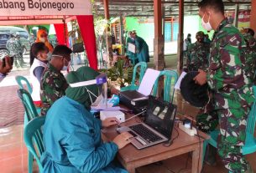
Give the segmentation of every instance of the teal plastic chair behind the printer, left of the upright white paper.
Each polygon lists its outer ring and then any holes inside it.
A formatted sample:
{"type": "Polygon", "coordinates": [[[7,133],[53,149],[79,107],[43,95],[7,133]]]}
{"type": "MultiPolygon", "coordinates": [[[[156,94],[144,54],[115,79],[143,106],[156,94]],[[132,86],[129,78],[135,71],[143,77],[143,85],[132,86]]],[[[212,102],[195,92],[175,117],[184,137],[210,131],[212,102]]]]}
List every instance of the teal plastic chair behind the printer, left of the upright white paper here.
{"type": "Polygon", "coordinates": [[[138,64],[136,64],[134,66],[132,83],[126,87],[121,88],[120,91],[137,90],[138,89],[138,85],[135,84],[136,73],[137,73],[138,67],[140,67],[138,82],[139,82],[139,84],[141,83],[141,81],[144,77],[144,74],[146,72],[146,69],[148,68],[148,64],[145,62],[139,62],[138,64]]]}

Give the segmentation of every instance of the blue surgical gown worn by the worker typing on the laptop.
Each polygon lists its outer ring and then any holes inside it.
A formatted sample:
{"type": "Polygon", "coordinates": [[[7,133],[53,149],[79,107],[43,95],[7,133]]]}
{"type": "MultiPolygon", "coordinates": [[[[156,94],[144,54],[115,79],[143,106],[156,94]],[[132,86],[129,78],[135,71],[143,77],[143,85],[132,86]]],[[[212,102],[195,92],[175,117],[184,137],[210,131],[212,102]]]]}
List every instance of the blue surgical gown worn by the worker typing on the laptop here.
{"type": "Polygon", "coordinates": [[[101,126],[82,104],[66,96],[58,99],[44,123],[44,172],[127,173],[112,163],[118,145],[102,143],[101,126]]]}

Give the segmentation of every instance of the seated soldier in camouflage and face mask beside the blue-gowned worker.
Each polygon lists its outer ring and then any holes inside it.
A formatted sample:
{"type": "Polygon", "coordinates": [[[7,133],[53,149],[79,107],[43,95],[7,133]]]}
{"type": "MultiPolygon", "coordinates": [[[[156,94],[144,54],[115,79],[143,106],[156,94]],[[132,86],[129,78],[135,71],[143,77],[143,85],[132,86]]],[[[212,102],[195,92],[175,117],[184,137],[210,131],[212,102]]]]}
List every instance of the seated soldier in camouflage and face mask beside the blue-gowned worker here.
{"type": "Polygon", "coordinates": [[[60,70],[71,61],[72,50],[64,45],[55,47],[50,65],[44,70],[40,84],[40,97],[43,103],[41,114],[45,115],[55,100],[65,95],[68,84],[60,70]]]}

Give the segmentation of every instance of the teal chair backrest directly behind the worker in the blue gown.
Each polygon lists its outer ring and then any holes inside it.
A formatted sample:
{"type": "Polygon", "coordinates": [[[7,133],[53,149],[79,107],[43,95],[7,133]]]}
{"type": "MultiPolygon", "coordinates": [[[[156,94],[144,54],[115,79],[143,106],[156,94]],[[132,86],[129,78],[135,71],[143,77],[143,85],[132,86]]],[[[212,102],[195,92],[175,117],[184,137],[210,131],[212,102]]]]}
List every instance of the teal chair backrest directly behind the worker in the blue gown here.
{"type": "Polygon", "coordinates": [[[43,166],[39,157],[44,152],[43,134],[41,130],[42,126],[44,125],[44,121],[45,116],[36,117],[29,121],[24,130],[24,142],[39,165],[39,172],[43,172],[43,166]],[[36,146],[38,152],[34,146],[36,146]]]}

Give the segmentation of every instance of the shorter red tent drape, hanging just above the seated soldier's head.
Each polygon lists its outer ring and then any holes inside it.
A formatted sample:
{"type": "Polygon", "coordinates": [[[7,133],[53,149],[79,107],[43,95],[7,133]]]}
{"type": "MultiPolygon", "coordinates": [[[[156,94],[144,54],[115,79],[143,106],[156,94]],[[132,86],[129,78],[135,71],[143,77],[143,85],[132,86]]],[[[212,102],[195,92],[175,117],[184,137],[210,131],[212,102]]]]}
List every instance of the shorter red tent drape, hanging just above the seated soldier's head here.
{"type": "Polygon", "coordinates": [[[54,24],[55,26],[55,33],[56,33],[56,37],[58,40],[59,44],[63,44],[66,45],[67,47],[69,47],[69,36],[68,36],[68,31],[67,31],[67,26],[66,23],[58,23],[58,24],[54,24]],[[65,30],[64,30],[65,29],[65,30]],[[64,33],[65,31],[65,33],[64,33]]]}

